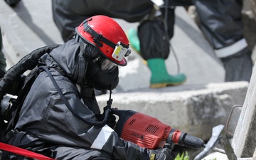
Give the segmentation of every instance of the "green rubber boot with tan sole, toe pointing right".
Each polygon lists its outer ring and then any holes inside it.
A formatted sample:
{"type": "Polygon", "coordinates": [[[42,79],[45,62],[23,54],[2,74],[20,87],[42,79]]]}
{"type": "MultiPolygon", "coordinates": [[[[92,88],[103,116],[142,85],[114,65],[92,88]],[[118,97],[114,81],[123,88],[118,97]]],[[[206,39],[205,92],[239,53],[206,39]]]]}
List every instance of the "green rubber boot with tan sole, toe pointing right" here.
{"type": "Polygon", "coordinates": [[[186,75],[183,73],[169,75],[166,70],[164,58],[151,58],[147,60],[147,63],[151,70],[151,88],[181,85],[186,81],[186,75]]]}

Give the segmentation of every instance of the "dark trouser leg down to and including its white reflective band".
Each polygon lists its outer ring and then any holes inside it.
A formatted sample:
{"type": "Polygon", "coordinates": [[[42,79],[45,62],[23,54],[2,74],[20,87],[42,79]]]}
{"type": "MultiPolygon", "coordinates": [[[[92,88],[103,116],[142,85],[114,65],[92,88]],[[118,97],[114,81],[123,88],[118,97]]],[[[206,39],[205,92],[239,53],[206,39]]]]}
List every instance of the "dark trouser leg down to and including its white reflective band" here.
{"type": "Polygon", "coordinates": [[[201,30],[215,49],[225,58],[247,47],[242,33],[242,3],[234,0],[193,0],[202,23],[201,30]]]}

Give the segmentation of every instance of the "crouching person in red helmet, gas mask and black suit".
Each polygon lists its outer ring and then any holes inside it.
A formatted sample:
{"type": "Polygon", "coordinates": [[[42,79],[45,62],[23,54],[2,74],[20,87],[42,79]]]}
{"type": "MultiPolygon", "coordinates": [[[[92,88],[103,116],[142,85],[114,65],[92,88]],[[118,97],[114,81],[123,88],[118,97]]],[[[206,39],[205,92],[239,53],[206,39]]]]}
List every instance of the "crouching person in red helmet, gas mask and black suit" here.
{"type": "MultiPolygon", "coordinates": [[[[174,159],[171,149],[151,150],[120,139],[112,129],[114,115],[100,114],[93,88],[113,90],[119,82],[117,65],[127,65],[124,57],[130,52],[116,21],[87,18],[76,27],[74,38],[40,58],[41,72],[8,143],[63,160],[174,159]]],[[[3,152],[2,159],[24,157],[3,152]]]]}

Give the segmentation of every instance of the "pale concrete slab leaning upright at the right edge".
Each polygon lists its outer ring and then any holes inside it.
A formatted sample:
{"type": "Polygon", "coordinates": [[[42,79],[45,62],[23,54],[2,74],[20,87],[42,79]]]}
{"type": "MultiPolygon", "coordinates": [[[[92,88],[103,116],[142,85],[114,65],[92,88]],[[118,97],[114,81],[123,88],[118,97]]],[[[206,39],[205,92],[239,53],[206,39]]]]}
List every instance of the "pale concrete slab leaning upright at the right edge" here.
{"type": "Polygon", "coordinates": [[[242,106],[242,112],[238,119],[238,125],[235,129],[233,138],[233,148],[238,157],[252,157],[256,149],[256,66],[252,71],[252,77],[246,93],[245,102],[242,106]]]}

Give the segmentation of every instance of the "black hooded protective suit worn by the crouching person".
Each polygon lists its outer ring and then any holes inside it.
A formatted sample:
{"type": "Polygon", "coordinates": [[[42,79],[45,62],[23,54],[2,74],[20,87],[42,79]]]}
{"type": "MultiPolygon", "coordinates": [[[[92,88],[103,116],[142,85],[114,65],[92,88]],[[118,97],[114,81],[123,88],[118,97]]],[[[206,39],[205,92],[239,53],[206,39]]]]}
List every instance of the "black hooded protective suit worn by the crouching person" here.
{"type": "MultiPolygon", "coordinates": [[[[90,90],[86,80],[90,66],[80,52],[79,42],[72,39],[43,55],[40,65],[49,68],[73,111],[42,70],[23,102],[15,127],[19,132],[9,144],[63,160],[149,159],[148,149],[120,139],[108,125],[87,123],[98,122],[95,115],[100,114],[100,109],[93,92],[86,99],[80,95],[80,88],[90,90]]],[[[10,159],[9,155],[12,154],[4,152],[3,159],[10,159]]]]}

